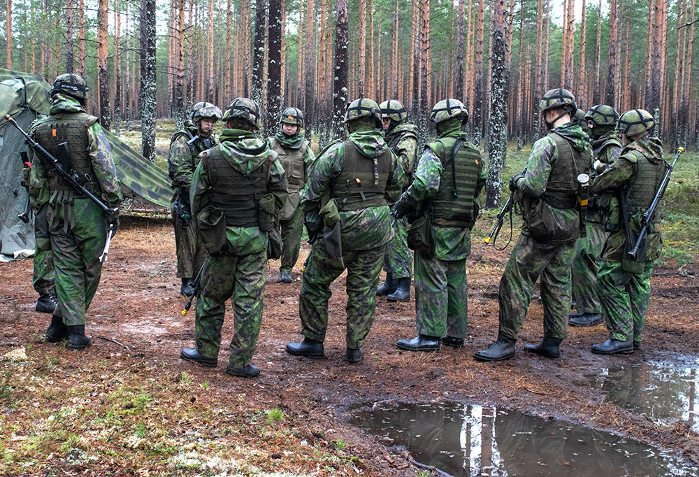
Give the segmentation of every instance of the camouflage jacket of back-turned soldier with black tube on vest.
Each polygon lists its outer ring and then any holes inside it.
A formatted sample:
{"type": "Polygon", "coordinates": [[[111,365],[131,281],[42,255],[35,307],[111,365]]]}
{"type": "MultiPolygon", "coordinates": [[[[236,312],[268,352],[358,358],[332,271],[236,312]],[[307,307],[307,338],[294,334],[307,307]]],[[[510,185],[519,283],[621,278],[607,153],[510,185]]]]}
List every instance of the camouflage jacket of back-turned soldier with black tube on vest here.
{"type": "MultiPolygon", "coordinates": [[[[443,131],[440,138],[444,137],[466,137],[461,129],[455,128],[443,131]]],[[[437,194],[440,187],[440,178],[442,175],[442,162],[440,158],[433,152],[434,148],[428,145],[422,153],[417,170],[415,171],[415,180],[408,187],[401,197],[401,205],[407,208],[415,209],[420,201],[433,197],[437,194]]],[[[475,196],[480,194],[480,191],[485,185],[487,178],[487,167],[485,164],[481,169],[478,183],[475,190],[475,196]]],[[[471,251],[470,230],[466,227],[432,227],[432,236],[435,241],[435,258],[440,260],[460,260],[468,257],[471,251]]]]}

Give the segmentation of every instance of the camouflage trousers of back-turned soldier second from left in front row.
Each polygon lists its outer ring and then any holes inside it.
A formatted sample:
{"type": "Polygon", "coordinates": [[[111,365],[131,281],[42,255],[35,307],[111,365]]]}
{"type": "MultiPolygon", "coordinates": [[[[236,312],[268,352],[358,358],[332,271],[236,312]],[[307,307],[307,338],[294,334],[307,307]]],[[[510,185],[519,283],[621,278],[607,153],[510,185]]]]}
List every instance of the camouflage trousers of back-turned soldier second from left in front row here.
{"type": "Polygon", "coordinates": [[[229,366],[250,364],[262,322],[262,299],[267,279],[267,252],[250,255],[206,255],[201,296],[196,299],[196,349],[218,357],[226,300],[233,304],[233,339],[229,366]]]}

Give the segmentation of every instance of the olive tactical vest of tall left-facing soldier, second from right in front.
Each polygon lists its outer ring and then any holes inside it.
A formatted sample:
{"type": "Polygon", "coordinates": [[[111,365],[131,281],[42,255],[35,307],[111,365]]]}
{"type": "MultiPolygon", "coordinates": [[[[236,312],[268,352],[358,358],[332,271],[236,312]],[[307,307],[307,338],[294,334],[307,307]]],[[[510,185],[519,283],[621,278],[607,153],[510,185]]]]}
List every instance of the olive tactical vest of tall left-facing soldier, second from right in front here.
{"type": "Polygon", "coordinates": [[[542,195],[549,206],[554,208],[577,207],[577,176],[586,173],[590,166],[589,155],[572,147],[568,139],[555,131],[549,137],[556,143],[559,158],[551,169],[546,192],[542,195]]]}

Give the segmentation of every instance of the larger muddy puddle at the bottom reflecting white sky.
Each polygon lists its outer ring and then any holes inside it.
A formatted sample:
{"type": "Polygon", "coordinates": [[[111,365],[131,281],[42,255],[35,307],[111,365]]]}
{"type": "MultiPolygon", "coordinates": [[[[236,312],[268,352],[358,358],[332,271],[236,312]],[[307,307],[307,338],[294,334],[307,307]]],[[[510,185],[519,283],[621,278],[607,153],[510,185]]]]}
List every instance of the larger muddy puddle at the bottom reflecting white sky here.
{"type": "Polygon", "coordinates": [[[375,404],[350,422],[452,476],[699,476],[646,444],[493,406],[375,404]]]}

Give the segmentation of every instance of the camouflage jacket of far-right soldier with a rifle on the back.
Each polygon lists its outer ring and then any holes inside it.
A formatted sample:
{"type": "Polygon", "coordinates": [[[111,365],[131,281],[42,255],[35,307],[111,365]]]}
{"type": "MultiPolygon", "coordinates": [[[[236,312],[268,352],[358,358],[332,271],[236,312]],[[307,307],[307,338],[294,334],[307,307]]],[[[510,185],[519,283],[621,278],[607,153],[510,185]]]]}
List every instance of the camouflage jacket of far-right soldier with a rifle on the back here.
{"type": "MultiPolygon", "coordinates": [[[[627,152],[637,150],[647,156],[663,157],[663,145],[658,138],[646,136],[626,145],[621,155],[610,164],[593,182],[592,188],[596,194],[610,192],[614,196],[614,203],[617,203],[617,192],[624,190],[628,184],[632,183],[635,176],[635,158],[626,155],[627,152]]],[[[610,205],[611,206],[611,205],[610,205]]],[[[656,212],[657,213],[657,212],[656,212]]],[[[640,229],[640,218],[632,217],[632,229],[640,229]],[[633,224],[636,224],[636,227],[633,224]]],[[[623,222],[623,220],[621,220],[623,222]]],[[[653,232],[648,236],[647,259],[654,260],[660,257],[663,248],[661,229],[659,224],[653,226],[653,232]]],[[[612,232],[607,238],[605,252],[602,258],[607,262],[621,262],[624,255],[624,243],[626,242],[626,232],[622,225],[621,229],[612,232]]],[[[633,246],[633,245],[632,245],[633,246]]]]}

